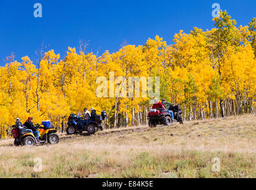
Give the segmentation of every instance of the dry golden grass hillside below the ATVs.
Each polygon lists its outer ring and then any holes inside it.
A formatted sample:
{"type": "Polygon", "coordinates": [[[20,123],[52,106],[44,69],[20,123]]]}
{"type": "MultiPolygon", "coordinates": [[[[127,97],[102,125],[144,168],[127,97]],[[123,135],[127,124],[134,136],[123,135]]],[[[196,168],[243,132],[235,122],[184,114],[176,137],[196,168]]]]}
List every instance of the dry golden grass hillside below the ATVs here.
{"type": "Polygon", "coordinates": [[[56,145],[0,141],[0,178],[256,178],[256,116],[60,135],[56,145]],[[42,172],[34,159],[42,159],[42,172]],[[220,159],[213,172],[212,159],[220,159]]]}

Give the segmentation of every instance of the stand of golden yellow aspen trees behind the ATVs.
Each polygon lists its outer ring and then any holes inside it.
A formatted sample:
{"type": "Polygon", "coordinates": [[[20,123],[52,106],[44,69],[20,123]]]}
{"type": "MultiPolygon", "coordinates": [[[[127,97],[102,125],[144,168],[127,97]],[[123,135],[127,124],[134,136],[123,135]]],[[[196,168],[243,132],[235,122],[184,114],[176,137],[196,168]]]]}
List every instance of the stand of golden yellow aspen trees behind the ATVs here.
{"type": "Polygon", "coordinates": [[[50,119],[61,128],[69,113],[84,107],[106,110],[106,127],[146,124],[148,97],[96,97],[97,77],[109,78],[109,72],[160,77],[160,97],[179,103],[186,120],[254,113],[256,18],[237,27],[222,11],[213,22],[211,30],[179,31],[171,45],[156,36],[100,56],[86,53],[84,43],[79,50],[69,47],[64,59],[42,49],[34,62],[8,56],[0,68],[0,126],[33,116],[34,122],[50,119]]]}

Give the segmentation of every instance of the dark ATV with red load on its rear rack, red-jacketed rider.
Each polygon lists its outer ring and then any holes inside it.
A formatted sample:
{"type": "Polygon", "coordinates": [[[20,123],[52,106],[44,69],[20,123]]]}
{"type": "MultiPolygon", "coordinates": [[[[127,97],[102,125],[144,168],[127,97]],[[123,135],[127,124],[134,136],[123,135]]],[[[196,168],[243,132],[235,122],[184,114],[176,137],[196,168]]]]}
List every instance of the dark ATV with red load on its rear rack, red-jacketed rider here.
{"type": "Polygon", "coordinates": [[[150,128],[156,127],[157,125],[172,125],[172,116],[165,109],[150,109],[147,118],[150,128]]]}

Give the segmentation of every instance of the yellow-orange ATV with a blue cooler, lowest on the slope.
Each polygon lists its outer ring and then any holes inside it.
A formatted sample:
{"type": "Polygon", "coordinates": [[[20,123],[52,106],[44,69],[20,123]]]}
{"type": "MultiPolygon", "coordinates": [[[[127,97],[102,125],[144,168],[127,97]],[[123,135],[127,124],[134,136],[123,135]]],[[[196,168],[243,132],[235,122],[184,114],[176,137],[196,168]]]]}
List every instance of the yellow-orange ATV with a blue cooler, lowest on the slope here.
{"type": "Polygon", "coordinates": [[[59,136],[56,134],[57,130],[53,126],[44,126],[37,124],[37,131],[39,131],[39,141],[37,141],[34,134],[26,128],[18,128],[17,125],[12,125],[12,135],[14,137],[14,145],[27,145],[31,147],[35,144],[57,144],[59,143],[59,136]]]}

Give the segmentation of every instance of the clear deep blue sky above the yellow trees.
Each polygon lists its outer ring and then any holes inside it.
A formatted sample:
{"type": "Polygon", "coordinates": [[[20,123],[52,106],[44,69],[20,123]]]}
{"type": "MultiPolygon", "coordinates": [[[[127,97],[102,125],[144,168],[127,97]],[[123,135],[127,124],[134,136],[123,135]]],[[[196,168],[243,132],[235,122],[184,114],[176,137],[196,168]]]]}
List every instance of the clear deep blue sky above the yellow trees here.
{"type": "Polygon", "coordinates": [[[122,42],[144,45],[148,37],[159,35],[172,43],[179,30],[186,33],[197,26],[213,28],[213,3],[235,18],[239,25],[247,25],[256,17],[256,1],[106,1],[106,0],[0,0],[0,65],[2,59],[14,52],[16,59],[28,55],[35,58],[35,50],[44,41],[64,58],[70,47],[78,47],[78,40],[90,40],[89,51],[100,54],[116,52],[122,42]],[[42,18],[34,17],[34,4],[42,4],[42,18]]]}

